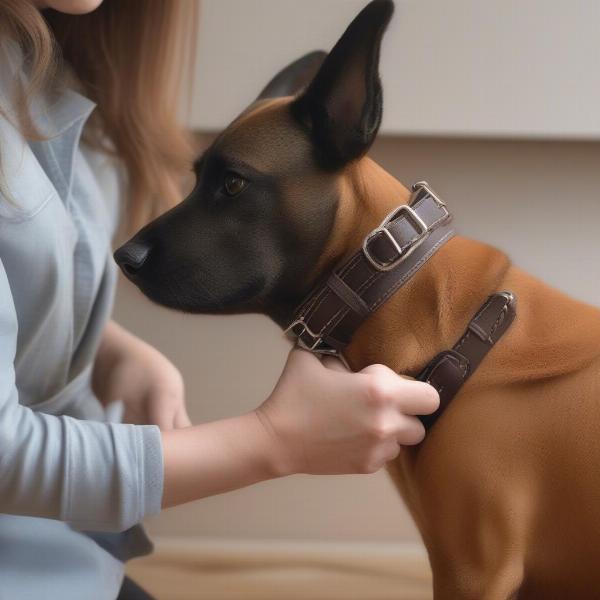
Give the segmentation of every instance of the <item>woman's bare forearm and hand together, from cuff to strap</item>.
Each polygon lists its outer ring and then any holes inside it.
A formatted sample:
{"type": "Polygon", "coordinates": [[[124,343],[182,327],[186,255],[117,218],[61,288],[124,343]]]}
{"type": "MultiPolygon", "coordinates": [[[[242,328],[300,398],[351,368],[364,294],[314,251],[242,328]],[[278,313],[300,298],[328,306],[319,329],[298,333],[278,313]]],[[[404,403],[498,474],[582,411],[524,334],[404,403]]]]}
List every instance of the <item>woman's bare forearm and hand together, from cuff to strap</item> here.
{"type": "Polygon", "coordinates": [[[292,350],[258,409],[163,433],[163,507],[292,473],[373,473],[425,435],[433,387],[382,365],[350,373],[292,350]]]}

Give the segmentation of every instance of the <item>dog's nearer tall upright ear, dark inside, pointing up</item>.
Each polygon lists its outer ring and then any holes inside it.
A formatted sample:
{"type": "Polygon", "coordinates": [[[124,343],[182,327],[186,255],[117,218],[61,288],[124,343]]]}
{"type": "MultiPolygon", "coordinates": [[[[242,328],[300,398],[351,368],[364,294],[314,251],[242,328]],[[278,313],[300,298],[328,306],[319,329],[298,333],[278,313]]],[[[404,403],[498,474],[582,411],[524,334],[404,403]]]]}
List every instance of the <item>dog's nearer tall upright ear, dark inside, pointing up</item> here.
{"type": "Polygon", "coordinates": [[[382,114],[379,50],[393,12],[391,0],[368,4],[292,103],[292,113],[309,128],[326,168],[360,157],[377,135],[382,114]]]}

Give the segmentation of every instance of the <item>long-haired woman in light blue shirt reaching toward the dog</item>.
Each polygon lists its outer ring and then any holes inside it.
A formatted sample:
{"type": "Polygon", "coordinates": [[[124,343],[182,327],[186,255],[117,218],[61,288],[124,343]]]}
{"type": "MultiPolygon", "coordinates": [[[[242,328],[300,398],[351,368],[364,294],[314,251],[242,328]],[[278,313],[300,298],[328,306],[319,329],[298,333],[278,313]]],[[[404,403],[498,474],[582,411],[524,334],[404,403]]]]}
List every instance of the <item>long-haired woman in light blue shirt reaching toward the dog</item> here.
{"type": "Polygon", "coordinates": [[[137,227],[191,161],[171,90],[192,8],[0,0],[0,598],[114,599],[123,561],[149,551],[146,515],[291,473],[373,472],[437,407],[385,367],[294,350],[262,406],[193,427],[177,369],[109,320],[120,191],[137,227]],[[125,423],[108,422],[115,399],[125,423]]]}

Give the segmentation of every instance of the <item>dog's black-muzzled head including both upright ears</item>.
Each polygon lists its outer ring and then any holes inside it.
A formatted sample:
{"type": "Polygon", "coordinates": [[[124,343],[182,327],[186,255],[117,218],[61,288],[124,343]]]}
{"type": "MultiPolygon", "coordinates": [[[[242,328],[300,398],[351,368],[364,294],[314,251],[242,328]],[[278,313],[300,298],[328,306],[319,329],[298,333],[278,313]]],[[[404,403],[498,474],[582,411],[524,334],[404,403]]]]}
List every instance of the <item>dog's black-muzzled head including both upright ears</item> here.
{"type": "Polygon", "coordinates": [[[346,173],[379,129],[379,49],[392,12],[391,0],[374,0],[329,54],[277,74],[196,161],[190,195],[117,250],[150,299],[276,316],[302,298],[323,263],[346,173]]]}

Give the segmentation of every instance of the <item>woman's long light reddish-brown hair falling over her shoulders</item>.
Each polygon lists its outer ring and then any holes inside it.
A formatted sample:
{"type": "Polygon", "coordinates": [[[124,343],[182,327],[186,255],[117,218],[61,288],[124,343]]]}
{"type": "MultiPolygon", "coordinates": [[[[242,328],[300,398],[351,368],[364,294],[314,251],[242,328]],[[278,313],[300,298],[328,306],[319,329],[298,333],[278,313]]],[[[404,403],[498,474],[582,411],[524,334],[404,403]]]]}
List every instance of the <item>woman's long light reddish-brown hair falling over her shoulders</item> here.
{"type": "Polygon", "coordinates": [[[92,13],[41,13],[24,0],[0,0],[4,33],[20,45],[29,71],[17,86],[19,126],[39,137],[28,99],[66,78],[97,103],[86,141],[116,153],[128,174],[128,228],[136,229],[179,199],[191,144],[177,122],[184,75],[191,77],[194,0],[104,0],[92,13]],[[107,144],[107,138],[109,143],[107,144]]]}

